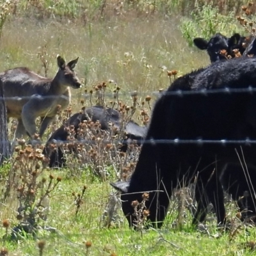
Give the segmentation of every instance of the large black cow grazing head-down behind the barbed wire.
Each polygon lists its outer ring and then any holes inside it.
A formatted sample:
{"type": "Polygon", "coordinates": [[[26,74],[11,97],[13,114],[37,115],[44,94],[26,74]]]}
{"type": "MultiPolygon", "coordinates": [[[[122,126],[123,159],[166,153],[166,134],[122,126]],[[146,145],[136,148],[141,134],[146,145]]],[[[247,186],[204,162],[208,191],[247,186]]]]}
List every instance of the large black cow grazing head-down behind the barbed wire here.
{"type": "Polygon", "coordinates": [[[214,205],[218,223],[225,223],[220,171],[226,163],[239,163],[235,148],[240,155],[243,148],[246,163],[256,165],[256,145],[239,143],[256,139],[256,93],[228,93],[226,87],[256,88],[255,70],[256,58],[217,61],[178,78],[157,100],[131,180],[111,183],[122,191],[130,226],[136,224],[131,202],[140,202],[143,191],[150,191],[148,219],[161,227],[172,189],[195,177],[198,209],[193,224],[205,220],[208,202],[214,205]]]}

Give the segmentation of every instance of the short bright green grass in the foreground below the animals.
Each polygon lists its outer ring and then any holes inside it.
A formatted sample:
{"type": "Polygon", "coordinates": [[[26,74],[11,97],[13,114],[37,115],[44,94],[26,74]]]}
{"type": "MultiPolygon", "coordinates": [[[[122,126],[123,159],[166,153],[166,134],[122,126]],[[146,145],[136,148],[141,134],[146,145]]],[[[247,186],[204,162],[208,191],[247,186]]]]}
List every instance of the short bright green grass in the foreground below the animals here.
{"type": "MultiPolygon", "coordinates": [[[[86,172],[86,170],[84,170],[86,172]]],[[[65,179],[65,173],[53,172],[54,176],[63,175],[57,189],[51,195],[51,209],[47,221],[41,224],[56,228],[55,232],[40,230],[38,237],[24,237],[19,242],[2,241],[10,255],[36,255],[38,240],[45,241],[44,255],[252,255],[243,245],[246,241],[255,240],[255,229],[247,236],[239,230],[232,239],[230,233],[220,233],[215,228],[215,221],[207,222],[209,234],[193,230],[190,227],[191,216],[182,230],[171,228],[175,216],[168,216],[161,230],[145,230],[134,232],[129,229],[127,221],[120,211],[120,221],[116,226],[106,228],[101,220],[102,213],[108,202],[111,188],[108,182],[90,182],[84,174],[65,179]],[[79,213],[75,214],[74,196],[72,192],[80,192],[86,184],[86,194],[79,213]],[[92,247],[88,254],[84,242],[91,241],[92,247]],[[113,254],[114,255],[114,254],[113,254]]],[[[172,206],[171,206],[172,207],[172,206]]],[[[15,220],[15,198],[6,205],[1,205],[1,220],[8,218],[10,227],[17,225],[15,220]]],[[[8,230],[10,232],[10,229],[8,230]]],[[[4,236],[2,228],[0,236],[4,236]]]]}

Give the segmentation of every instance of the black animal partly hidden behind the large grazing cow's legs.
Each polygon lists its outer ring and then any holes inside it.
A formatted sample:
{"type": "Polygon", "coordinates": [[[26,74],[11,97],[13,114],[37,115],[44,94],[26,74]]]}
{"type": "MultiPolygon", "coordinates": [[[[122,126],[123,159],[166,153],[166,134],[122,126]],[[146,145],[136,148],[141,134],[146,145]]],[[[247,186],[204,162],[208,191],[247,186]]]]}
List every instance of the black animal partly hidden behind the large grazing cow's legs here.
{"type": "Polygon", "coordinates": [[[224,190],[236,200],[241,221],[251,216],[256,221],[256,168],[255,166],[242,166],[229,163],[223,168],[220,181],[224,190]]]}

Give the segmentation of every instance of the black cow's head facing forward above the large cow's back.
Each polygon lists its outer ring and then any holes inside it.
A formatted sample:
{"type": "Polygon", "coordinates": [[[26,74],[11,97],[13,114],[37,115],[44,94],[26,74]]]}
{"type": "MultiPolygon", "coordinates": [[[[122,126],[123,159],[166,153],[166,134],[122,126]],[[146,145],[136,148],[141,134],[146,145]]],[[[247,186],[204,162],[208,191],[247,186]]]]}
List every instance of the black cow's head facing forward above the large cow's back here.
{"type": "Polygon", "coordinates": [[[243,47],[245,40],[246,37],[241,36],[238,33],[235,33],[230,38],[227,38],[227,36],[224,36],[221,33],[216,33],[216,35],[212,36],[209,41],[197,37],[193,42],[200,50],[207,51],[211,63],[213,63],[218,60],[227,60],[225,55],[221,54],[221,50],[225,50],[227,55],[232,56],[232,58],[234,58],[234,49],[238,49],[242,55],[245,50],[243,47]]]}

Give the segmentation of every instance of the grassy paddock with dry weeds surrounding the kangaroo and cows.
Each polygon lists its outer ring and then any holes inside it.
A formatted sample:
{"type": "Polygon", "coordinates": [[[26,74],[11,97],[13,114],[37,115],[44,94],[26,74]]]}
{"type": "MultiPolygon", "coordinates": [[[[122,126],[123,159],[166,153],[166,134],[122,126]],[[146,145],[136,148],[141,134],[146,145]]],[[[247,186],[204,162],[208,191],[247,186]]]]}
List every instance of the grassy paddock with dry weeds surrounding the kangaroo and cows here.
{"type": "MultiPolygon", "coordinates": [[[[136,122],[147,122],[143,116],[150,116],[157,97],[154,92],[175,79],[167,71],[177,70],[180,76],[209,65],[207,53],[191,44],[195,36],[209,38],[216,32],[229,36],[234,31],[246,35],[236,20],[241,6],[247,4],[240,0],[0,3],[1,70],[26,66],[52,77],[56,54],[67,61],[79,56],[76,70],[84,86],[72,91],[72,106],[58,116],[45,140],[65,118],[82,106],[95,104],[103,82],[108,85],[106,106],[120,100],[136,108],[136,122]],[[151,100],[145,100],[147,95],[151,100]]],[[[40,147],[36,151],[20,144],[1,167],[0,255],[251,255],[255,249],[255,230],[237,221],[236,207],[230,202],[230,232],[216,230],[214,214],[207,228],[191,229],[191,202],[186,193],[175,194],[161,230],[130,230],[109,182],[127,178],[140,148],[128,161],[122,155],[109,159],[99,144],[91,152],[97,161],[85,161],[88,158],[83,154],[68,156],[67,168],[49,170],[44,168],[40,147]],[[38,232],[14,236],[13,228],[28,220],[31,223],[31,216],[38,232]]]]}

